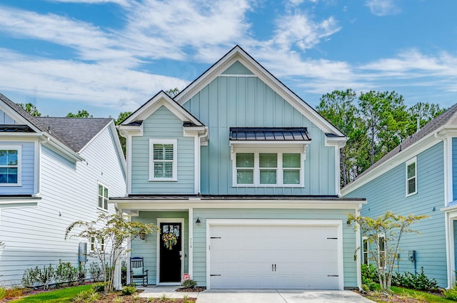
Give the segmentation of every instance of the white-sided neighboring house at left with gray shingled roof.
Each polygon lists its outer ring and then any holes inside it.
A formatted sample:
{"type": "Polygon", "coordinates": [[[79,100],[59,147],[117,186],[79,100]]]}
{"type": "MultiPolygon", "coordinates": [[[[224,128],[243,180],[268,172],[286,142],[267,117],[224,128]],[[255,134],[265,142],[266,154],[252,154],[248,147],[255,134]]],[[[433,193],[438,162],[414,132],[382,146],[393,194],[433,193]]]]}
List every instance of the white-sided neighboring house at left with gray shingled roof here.
{"type": "Polygon", "coordinates": [[[125,169],[113,119],[33,117],[0,94],[0,284],[59,259],[76,266],[66,227],[114,212],[125,169]]]}

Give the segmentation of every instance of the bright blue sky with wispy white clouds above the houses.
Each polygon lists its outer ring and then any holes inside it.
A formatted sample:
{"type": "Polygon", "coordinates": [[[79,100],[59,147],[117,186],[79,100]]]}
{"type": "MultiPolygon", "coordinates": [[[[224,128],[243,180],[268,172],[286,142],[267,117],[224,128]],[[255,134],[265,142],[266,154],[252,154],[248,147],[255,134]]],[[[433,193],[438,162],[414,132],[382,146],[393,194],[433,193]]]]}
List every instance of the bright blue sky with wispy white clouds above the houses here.
{"type": "Polygon", "coordinates": [[[41,113],[134,111],[240,45],[308,104],[333,90],[457,102],[454,0],[1,0],[0,92],[41,113]]]}

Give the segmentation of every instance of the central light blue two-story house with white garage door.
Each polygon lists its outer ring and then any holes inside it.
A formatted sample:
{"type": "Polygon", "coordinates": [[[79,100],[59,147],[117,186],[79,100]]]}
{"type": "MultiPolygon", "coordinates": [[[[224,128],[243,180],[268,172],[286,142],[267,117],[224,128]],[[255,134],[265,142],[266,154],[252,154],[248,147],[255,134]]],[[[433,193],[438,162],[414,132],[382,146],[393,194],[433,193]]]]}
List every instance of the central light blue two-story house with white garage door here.
{"type": "Polygon", "coordinates": [[[149,284],[189,274],[209,289],[358,287],[339,197],[346,137],[239,46],[178,96],[163,91],[119,126],[127,196],[110,202],[161,235],[132,243],[149,284]]]}

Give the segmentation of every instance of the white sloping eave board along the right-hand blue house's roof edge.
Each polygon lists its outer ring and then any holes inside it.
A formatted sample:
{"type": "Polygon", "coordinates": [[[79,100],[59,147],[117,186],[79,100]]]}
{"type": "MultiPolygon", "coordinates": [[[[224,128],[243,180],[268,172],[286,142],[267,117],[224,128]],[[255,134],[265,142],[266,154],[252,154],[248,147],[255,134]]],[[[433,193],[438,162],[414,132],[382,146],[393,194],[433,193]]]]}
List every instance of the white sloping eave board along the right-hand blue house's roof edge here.
{"type": "Polygon", "coordinates": [[[354,190],[361,188],[361,186],[366,185],[367,183],[375,180],[379,176],[387,173],[389,170],[396,168],[396,166],[400,165],[401,163],[406,162],[413,158],[414,156],[422,153],[424,150],[431,148],[433,145],[441,142],[440,139],[436,138],[436,133],[439,133],[440,130],[437,130],[434,133],[428,134],[426,137],[422,138],[418,142],[414,143],[413,145],[408,146],[408,148],[402,150],[397,155],[394,155],[392,158],[386,160],[385,163],[382,163],[373,170],[363,175],[361,178],[354,180],[352,183],[349,183],[344,188],[341,189],[341,195],[343,197],[345,195],[350,194],[354,190]]]}

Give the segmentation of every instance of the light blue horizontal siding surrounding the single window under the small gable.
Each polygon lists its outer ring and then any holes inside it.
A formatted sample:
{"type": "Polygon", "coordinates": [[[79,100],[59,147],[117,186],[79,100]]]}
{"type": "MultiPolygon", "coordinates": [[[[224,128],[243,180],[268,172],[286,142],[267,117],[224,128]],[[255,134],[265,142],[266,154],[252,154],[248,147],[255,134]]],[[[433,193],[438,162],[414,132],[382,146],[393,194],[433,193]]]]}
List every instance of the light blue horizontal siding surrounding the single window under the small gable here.
{"type": "Polygon", "coordinates": [[[132,194],[191,194],[195,191],[194,137],[184,137],[183,121],[161,106],[143,121],[141,137],[132,137],[132,194]],[[177,139],[178,180],[149,181],[149,139],[177,139]]]}

